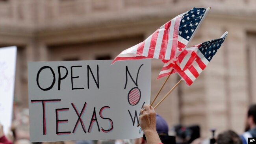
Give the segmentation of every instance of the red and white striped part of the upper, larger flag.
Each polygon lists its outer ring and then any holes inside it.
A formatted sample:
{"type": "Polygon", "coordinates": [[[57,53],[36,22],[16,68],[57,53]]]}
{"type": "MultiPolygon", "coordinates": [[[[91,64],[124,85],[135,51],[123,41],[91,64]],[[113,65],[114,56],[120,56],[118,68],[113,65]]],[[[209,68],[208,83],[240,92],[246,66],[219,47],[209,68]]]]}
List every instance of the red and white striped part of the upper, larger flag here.
{"type": "Polygon", "coordinates": [[[177,47],[182,46],[182,44],[178,42],[178,30],[183,15],[184,14],[178,15],[161,26],[145,41],[122,51],[121,54],[117,55],[113,60],[112,64],[121,60],[146,58],[170,60],[175,58],[177,47]]]}

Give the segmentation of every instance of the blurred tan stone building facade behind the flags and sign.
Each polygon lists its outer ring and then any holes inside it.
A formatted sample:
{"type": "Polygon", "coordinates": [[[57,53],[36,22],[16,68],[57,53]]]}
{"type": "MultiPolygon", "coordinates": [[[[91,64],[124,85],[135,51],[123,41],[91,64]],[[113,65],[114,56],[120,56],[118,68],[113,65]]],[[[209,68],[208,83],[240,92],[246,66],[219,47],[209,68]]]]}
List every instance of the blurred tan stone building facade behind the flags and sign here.
{"type": "MultiPolygon", "coordinates": [[[[191,45],[228,37],[195,83],[179,85],[156,111],[170,127],[199,124],[202,137],[210,128],[243,132],[256,103],[255,0],[0,0],[0,46],[18,46],[15,99],[28,107],[28,61],[113,59],[192,7],[212,8],[191,45]]],[[[152,61],[151,98],[162,66],[152,61]]]]}

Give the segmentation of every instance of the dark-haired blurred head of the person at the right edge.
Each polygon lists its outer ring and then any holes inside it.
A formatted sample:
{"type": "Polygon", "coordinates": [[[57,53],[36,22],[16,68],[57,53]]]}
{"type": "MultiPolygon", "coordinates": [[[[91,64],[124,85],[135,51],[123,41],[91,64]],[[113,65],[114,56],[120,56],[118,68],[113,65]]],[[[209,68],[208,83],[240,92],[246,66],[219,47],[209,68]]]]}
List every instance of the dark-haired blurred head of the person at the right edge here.
{"type": "Polygon", "coordinates": [[[256,104],[250,105],[247,118],[246,118],[246,127],[245,131],[252,129],[256,126],[256,104]]]}

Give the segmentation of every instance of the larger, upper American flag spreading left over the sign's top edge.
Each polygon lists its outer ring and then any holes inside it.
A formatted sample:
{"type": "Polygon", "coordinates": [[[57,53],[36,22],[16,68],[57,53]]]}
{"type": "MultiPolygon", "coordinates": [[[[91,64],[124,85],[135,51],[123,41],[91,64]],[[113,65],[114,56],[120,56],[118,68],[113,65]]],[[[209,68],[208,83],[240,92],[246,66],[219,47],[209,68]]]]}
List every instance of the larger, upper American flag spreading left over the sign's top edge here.
{"type": "Polygon", "coordinates": [[[177,49],[186,47],[207,12],[205,8],[193,8],[178,15],[145,41],[122,51],[112,64],[121,60],[155,58],[165,62],[176,58],[177,49]]]}

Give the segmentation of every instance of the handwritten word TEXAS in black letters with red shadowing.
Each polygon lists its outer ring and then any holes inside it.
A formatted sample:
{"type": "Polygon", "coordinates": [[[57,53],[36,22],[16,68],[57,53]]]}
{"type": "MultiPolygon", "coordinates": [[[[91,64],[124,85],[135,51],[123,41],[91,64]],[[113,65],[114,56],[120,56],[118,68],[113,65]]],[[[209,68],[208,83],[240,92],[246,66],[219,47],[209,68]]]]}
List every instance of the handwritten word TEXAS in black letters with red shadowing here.
{"type": "MultiPolygon", "coordinates": [[[[53,99],[53,100],[31,100],[31,102],[32,103],[42,103],[42,105],[43,105],[43,135],[46,135],[46,120],[45,120],[45,117],[46,117],[46,112],[45,112],[45,109],[46,109],[46,105],[45,105],[45,103],[46,102],[60,102],[61,101],[61,99],[53,99]]],[[[82,129],[83,129],[83,131],[84,131],[84,133],[86,133],[86,130],[85,130],[85,126],[84,126],[84,124],[83,124],[83,120],[82,120],[82,115],[83,115],[83,113],[84,113],[84,111],[85,111],[85,109],[86,109],[86,105],[87,105],[87,103],[85,102],[84,103],[84,105],[83,105],[83,108],[82,108],[82,110],[81,110],[81,113],[79,113],[78,112],[78,109],[76,109],[76,105],[74,104],[74,103],[71,103],[71,105],[72,105],[72,107],[74,108],[74,110],[75,110],[75,112],[76,112],[76,114],[77,114],[77,116],[78,116],[78,120],[76,121],[76,124],[75,124],[75,126],[74,126],[74,129],[73,129],[73,131],[72,131],[72,133],[75,133],[75,131],[76,131],[76,128],[77,128],[77,126],[78,126],[78,124],[79,124],[79,122],[81,123],[81,126],[82,126],[82,129]]],[[[100,115],[100,118],[102,118],[102,119],[104,119],[104,120],[109,120],[109,122],[110,122],[110,128],[109,129],[104,129],[103,127],[101,127],[101,131],[102,132],[104,132],[104,133],[108,133],[109,131],[111,131],[112,129],[113,129],[113,121],[110,119],[110,118],[104,118],[103,116],[102,116],[102,111],[104,110],[104,109],[110,109],[110,107],[109,106],[104,106],[104,107],[102,107],[101,109],[100,109],[100,111],[99,111],[99,115],[100,115]]],[[[55,112],[56,112],[56,134],[57,135],[69,135],[70,133],[71,133],[71,131],[58,131],[58,128],[59,128],[59,123],[66,123],[66,122],[69,122],[69,120],[59,120],[59,117],[58,117],[58,112],[59,111],[69,111],[69,108],[61,108],[61,109],[55,109],[55,112]]],[[[88,128],[88,133],[90,133],[91,132],[91,128],[92,128],[92,126],[93,126],[93,123],[94,122],[96,122],[96,124],[97,124],[97,126],[98,126],[98,131],[100,131],[100,126],[99,126],[99,124],[98,124],[98,120],[97,120],[97,116],[96,116],[96,111],[95,111],[95,107],[94,107],[94,110],[93,110],[93,115],[92,115],[92,117],[91,117],[91,122],[90,122],[90,124],[89,124],[89,128],[88,128]]]]}

